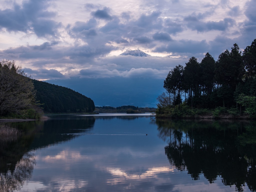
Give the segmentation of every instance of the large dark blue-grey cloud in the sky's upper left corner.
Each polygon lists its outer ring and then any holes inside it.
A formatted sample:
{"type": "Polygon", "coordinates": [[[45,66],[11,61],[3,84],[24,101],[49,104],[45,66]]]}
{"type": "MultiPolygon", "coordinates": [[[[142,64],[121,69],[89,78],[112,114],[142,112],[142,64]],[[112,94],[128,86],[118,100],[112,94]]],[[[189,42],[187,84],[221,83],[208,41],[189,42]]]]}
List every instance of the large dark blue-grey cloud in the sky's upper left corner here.
{"type": "Polygon", "coordinates": [[[48,1],[24,1],[22,6],[14,4],[13,9],[0,10],[0,28],[7,31],[34,31],[38,37],[56,37],[61,23],[50,19],[56,15],[46,9],[48,1]]]}

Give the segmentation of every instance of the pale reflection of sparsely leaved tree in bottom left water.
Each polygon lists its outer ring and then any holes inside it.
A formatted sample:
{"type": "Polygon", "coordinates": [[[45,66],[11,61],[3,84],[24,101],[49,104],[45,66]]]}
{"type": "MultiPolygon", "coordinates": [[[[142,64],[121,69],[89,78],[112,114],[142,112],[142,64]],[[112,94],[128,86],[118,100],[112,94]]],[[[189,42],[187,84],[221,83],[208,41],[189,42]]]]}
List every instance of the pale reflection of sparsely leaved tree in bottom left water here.
{"type": "Polygon", "coordinates": [[[31,178],[35,163],[35,155],[26,153],[16,163],[14,170],[8,169],[6,173],[0,173],[0,191],[20,190],[25,181],[31,178]]]}

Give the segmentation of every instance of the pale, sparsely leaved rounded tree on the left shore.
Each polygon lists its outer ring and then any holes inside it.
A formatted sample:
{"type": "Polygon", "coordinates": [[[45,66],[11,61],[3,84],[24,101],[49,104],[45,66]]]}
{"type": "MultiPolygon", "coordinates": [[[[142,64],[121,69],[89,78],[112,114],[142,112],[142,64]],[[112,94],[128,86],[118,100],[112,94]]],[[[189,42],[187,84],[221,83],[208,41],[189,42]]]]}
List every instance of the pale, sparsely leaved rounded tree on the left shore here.
{"type": "Polygon", "coordinates": [[[21,115],[23,110],[35,102],[33,81],[26,76],[15,61],[1,60],[0,63],[0,115],[21,115]]]}

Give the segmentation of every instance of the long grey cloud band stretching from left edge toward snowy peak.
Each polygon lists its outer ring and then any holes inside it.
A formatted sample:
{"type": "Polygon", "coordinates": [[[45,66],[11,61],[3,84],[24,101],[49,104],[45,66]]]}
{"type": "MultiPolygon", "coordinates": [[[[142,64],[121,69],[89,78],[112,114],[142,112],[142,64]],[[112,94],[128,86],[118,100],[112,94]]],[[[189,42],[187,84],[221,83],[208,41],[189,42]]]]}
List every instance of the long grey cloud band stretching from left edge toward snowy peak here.
{"type": "Polygon", "coordinates": [[[59,47],[57,42],[54,41],[52,43],[45,42],[39,46],[21,46],[2,50],[0,51],[0,57],[14,60],[40,59],[39,61],[34,61],[33,65],[41,67],[52,63],[55,63],[56,66],[61,66],[62,63],[67,62],[81,65],[94,58],[104,56],[114,49],[111,45],[97,44],[94,46],[59,47]]]}

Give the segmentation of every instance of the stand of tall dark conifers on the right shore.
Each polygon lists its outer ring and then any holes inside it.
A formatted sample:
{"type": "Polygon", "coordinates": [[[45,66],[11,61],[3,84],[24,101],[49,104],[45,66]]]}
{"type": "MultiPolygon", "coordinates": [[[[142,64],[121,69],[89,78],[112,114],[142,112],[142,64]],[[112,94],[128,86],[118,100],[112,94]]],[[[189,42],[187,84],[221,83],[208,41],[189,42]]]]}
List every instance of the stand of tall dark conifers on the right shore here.
{"type": "Polygon", "coordinates": [[[207,53],[199,63],[191,57],[185,67],[169,71],[164,88],[158,96],[158,113],[164,109],[236,109],[238,113],[256,113],[256,39],[239,51],[234,44],[231,51],[219,55],[217,61],[207,53]]]}

